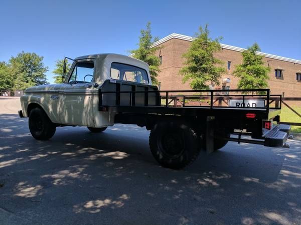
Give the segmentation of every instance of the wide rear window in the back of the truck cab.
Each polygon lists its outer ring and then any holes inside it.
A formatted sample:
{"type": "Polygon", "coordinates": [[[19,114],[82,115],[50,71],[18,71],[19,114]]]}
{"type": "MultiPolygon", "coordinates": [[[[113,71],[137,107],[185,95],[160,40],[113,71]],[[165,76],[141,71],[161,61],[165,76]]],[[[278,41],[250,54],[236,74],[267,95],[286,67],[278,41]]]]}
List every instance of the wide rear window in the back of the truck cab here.
{"type": "Polygon", "coordinates": [[[144,69],[118,62],[111,64],[111,78],[148,84],[148,75],[144,69]]]}

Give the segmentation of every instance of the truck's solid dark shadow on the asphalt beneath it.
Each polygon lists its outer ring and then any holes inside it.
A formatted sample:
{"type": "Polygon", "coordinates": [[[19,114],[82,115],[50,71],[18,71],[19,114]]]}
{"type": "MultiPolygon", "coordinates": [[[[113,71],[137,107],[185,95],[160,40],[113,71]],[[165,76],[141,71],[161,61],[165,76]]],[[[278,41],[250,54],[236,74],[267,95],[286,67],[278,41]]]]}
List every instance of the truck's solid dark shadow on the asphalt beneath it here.
{"type": "MultiPolygon", "coordinates": [[[[149,150],[149,131],[145,128],[116,124],[102,133],[91,133],[85,127],[62,129],[58,129],[52,141],[68,142],[67,144],[74,144],[79,148],[102,149],[106,152],[117,150],[142,163],[158,165],[149,150]]],[[[262,182],[273,182],[278,177],[283,160],[284,156],[273,152],[271,148],[245,143],[239,146],[235,142],[229,142],[209,155],[201,151],[198,159],[184,170],[192,173],[215,170],[255,177],[262,182]]]]}

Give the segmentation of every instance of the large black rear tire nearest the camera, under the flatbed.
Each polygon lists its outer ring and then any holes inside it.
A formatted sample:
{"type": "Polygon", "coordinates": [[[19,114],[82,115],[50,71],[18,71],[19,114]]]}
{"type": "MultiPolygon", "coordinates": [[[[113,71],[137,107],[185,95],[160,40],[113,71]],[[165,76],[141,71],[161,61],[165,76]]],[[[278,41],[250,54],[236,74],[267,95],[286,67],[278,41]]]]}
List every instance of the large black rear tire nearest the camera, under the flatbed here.
{"type": "Polygon", "coordinates": [[[200,153],[199,138],[187,124],[157,123],[149,134],[149,146],[155,159],[164,167],[181,169],[200,153]]]}

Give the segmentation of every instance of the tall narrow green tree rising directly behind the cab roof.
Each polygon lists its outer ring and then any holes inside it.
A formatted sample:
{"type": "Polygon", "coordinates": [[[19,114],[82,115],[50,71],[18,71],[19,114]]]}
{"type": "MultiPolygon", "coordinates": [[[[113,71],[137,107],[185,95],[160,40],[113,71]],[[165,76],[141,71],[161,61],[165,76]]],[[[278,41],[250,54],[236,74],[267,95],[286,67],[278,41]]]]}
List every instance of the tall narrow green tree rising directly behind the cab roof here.
{"type": "Polygon", "coordinates": [[[158,73],[160,72],[160,58],[155,55],[160,47],[151,47],[158,37],[153,38],[150,30],[150,22],[147,22],[146,29],[141,29],[138,48],[130,50],[134,58],[140,59],[149,65],[150,78],[154,85],[158,84],[158,73]]]}

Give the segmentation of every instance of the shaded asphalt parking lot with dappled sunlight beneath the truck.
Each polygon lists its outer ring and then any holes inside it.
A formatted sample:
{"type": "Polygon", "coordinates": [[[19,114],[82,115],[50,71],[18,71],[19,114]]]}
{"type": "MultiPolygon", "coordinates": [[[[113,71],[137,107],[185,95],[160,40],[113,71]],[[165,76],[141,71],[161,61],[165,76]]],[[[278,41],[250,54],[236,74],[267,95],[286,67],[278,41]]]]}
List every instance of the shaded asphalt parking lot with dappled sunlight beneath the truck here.
{"type": "Polygon", "coordinates": [[[135,125],[58,127],[37,141],[19,101],[0,97],[0,224],[301,223],[300,140],[229,142],[172,170],[135,125]]]}

